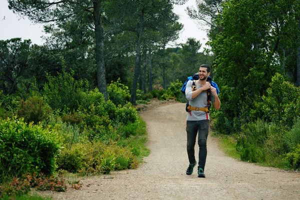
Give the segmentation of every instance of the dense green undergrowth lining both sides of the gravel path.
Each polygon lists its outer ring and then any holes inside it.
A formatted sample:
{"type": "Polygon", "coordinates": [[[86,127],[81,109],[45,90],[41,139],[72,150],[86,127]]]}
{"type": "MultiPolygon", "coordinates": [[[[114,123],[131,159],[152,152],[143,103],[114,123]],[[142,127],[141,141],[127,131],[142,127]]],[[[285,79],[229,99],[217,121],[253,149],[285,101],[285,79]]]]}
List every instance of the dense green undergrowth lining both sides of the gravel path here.
{"type": "MultiPolygon", "coordinates": [[[[30,187],[64,191],[80,188],[80,176],[136,168],[147,156],[145,122],[129,103],[130,92],[119,80],[108,84],[108,100],[72,73],[47,76],[42,90],[32,83],[13,95],[0,91],[0,196],[19,197],[30,187]],[[19,196],[20,195],[20,196],[19,196]]],[[[137,102],[150,98],[185,102],[176,80],[167,90],[159,85],[137,102]]],[[[222,91],[220,91],[220,98],[222,91]]],[[[225,118],[211,108],[212,128],[226,153],[265,166],[300,166],[300,96],[298,88],[276,75],[267,95],[248,113],[250,122],[222,134],[225,118]],[[277,87],[275,85],[280,85],[277,87]],[[293,95],[290,100],[282,100],[293,95]]],[[[231,122],[230,122],[231,123],[231,122]]],[[[225,127],[224,127],[225,128],[225,127]]]]}

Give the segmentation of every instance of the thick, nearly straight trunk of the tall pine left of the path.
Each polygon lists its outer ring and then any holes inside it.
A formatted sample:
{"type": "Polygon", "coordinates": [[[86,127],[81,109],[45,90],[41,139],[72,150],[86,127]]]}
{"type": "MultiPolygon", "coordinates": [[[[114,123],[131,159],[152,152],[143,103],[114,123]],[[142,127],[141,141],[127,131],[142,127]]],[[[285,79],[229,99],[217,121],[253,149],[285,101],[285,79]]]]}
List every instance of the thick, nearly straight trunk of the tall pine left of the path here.
{"type": "Polygon", "coordinates": [[[104,32],[101,22],[101,0],[93,0],[93,17],[95,25],[95,43],[96,43],[96,65],[97,65],[97,83],[98,90],[104,95],[105,100],[107,97],[106,90],[106,73],[104,65],[104,56],[103,56],[103,46],[104,46],[104,32]]]}

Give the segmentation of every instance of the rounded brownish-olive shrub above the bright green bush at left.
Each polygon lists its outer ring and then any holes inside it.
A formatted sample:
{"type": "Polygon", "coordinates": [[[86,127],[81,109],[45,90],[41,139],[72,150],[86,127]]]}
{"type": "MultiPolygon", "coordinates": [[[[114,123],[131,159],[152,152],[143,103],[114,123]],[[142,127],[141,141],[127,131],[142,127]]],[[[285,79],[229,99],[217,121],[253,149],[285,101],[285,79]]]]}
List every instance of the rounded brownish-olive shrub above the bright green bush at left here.
{"type": "Polygon", "coordinates": [[[33,121],[37,124],[46,119],[50,108],[44,104],[43,98],[38,95],[30,96],[27,100],[20,100],[20,108],[17,111],[18,117],[23,117],[26,123],[33,121]]]}

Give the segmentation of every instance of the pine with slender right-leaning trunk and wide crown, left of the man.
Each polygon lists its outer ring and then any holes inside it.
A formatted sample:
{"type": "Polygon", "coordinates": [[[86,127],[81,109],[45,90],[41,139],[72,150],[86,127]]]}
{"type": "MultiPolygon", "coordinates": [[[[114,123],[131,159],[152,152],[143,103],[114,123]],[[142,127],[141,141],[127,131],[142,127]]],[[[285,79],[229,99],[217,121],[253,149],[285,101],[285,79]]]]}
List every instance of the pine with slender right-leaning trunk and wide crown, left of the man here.
{"type": "Polygon", "coordinates": [[[110,6],[120,9],[117,13],[105,13],[114,26],[112,29],[119,34],[128,31],[134,34],[132,40],[135,41],[135,64],[130,102],[135,103],[141,46],[145,42],[145,35],[148,31],[162,32],[166,29],[166,24],[176,23],[178,16],[172,12],[172,3],[165,0],[119,0],[110,6]]]}

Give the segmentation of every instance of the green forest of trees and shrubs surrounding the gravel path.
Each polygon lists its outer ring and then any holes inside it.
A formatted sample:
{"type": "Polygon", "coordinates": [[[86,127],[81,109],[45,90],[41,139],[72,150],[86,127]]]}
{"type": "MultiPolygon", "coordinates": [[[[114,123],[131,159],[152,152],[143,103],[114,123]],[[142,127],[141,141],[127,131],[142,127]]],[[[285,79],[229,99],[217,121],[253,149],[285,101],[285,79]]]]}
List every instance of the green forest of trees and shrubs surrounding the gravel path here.
{"type": "Polygon", "coordinates": [[[169,45],[186,0],[7,1],[49,36],[0,40],[0,196],[138,167],[149,152],[135,105],[186,102],[180,88],[203,63],[220,91],[213,131],[243,161],[299,169],[299,0],[196,0],[186,12],[209,27],[202,51],[195,38],[169,45]]]}

